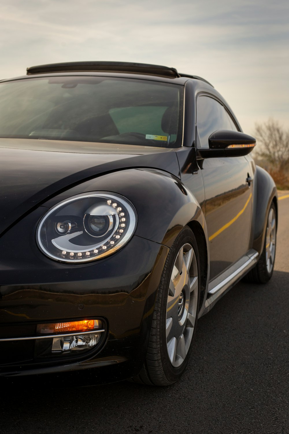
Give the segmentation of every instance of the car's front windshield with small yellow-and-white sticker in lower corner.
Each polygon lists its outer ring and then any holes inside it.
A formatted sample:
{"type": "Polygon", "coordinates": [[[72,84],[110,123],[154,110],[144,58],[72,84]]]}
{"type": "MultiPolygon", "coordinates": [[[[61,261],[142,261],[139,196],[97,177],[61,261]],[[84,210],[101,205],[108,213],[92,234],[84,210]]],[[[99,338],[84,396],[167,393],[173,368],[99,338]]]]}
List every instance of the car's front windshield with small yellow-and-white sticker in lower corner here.
{"type": "Polygon", "coordinates": [[[55,76],[0,83],[0,137],[177,148],[183,86],[55,76]]]}

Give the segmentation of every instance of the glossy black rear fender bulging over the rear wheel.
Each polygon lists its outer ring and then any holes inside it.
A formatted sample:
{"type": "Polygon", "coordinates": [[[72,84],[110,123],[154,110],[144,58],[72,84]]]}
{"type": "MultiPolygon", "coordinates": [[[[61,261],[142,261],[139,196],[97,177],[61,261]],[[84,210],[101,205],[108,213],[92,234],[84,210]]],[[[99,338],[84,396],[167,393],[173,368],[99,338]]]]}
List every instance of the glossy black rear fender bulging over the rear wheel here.
{"type": "Polygon", "coordinates": [[[277,188],[273,178],[266,170],[256,166],[254,177],[254,202],[253,202],[253,249],[261,254],[263,250],[266,224],[272,201],[276,205],[277,219],[277,188]]]}

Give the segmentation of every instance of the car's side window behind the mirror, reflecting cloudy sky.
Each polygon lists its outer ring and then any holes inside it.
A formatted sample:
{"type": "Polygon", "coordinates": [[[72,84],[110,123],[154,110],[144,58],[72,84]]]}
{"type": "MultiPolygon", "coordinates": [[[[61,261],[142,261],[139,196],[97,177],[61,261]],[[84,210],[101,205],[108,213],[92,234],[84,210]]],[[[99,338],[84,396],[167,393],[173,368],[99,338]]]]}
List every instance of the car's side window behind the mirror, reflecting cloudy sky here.
{"type": "Polygon", "coordinates": [[[208,148],[208,138],[217,130],[238,131],[230,115],[214,98],[197,98],[197,128],[202,148],[208,148]]]}

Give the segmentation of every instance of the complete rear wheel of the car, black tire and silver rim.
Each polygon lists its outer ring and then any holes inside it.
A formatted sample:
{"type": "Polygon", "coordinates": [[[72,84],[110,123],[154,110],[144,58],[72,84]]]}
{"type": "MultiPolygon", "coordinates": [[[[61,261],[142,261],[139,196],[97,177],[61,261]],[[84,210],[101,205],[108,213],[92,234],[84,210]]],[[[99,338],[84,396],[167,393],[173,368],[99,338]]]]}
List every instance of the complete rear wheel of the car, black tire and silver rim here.
{"type": "Polygon", "coordinates": [[[267,219],[263,251],[257,264],[246,276],[248,282],[267,283],[271,279],[276,255],[276,233],[276,207],[272,202],[267,219]]]}

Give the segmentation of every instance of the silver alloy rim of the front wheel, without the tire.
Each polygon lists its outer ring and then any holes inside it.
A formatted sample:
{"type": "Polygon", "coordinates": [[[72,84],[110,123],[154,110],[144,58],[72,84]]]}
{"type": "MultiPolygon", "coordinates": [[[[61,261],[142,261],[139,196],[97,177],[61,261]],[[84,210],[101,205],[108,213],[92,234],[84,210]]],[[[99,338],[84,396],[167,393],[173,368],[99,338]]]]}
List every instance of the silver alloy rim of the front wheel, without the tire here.
{"type": "Polygon", "coordinates": [[[176,257],[166,307],[166,345],[169,360],[178,368],[190,348],[198,304],[198,265],[191,244],[176,257]]]}

